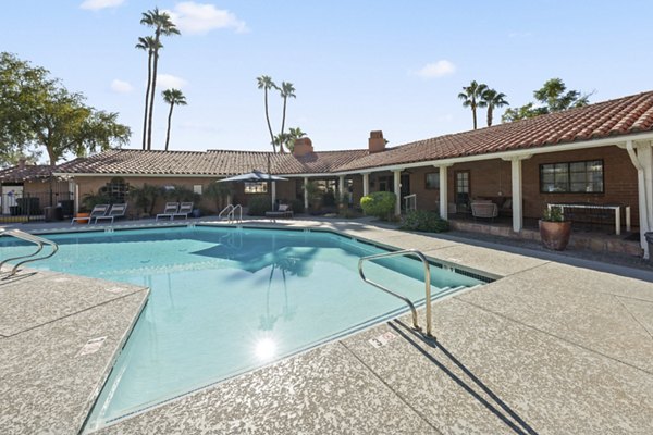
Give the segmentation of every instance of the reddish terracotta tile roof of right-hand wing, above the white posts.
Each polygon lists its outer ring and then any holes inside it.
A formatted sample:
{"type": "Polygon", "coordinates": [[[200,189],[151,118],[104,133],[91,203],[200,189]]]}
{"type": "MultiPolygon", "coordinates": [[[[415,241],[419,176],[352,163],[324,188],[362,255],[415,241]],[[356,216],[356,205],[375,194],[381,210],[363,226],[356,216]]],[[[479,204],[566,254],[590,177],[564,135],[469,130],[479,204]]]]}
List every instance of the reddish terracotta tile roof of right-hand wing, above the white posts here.
{"type": "Polygon", "coordinates": [[[340,171],[539,148],[651,130],[653,91],[402,145],[356,159],[340,171]]]}

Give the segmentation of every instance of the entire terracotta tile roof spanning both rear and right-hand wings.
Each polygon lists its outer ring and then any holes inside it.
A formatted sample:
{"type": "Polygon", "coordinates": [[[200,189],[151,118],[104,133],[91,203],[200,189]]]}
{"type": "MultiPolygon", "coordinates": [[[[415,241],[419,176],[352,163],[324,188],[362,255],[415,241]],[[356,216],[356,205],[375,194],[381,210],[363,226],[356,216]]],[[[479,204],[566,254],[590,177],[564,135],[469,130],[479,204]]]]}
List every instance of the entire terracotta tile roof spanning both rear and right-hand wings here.
{"type": "Polygon", "coordinates": [[[540,148],[653,130],[653,91],[493,127],[419,140],[370,154],[367,149],[296,158],[263,151],[109,150],[58,166],[56,174],[230,176],[251,170],[326,174],[420,161],[540,148]]]}

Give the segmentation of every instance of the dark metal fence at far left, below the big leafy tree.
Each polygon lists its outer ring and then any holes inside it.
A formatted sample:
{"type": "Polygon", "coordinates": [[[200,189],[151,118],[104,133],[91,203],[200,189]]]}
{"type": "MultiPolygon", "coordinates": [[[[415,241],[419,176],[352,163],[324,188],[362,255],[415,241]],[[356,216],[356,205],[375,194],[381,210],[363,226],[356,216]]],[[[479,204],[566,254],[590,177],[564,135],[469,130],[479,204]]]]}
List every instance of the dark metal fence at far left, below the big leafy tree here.
{"type": "Polygon", "coordinates": [[[57,221],[72,217],[74,196],[70,191],[23,192],[0,195],[0,223],[57,221]]]}

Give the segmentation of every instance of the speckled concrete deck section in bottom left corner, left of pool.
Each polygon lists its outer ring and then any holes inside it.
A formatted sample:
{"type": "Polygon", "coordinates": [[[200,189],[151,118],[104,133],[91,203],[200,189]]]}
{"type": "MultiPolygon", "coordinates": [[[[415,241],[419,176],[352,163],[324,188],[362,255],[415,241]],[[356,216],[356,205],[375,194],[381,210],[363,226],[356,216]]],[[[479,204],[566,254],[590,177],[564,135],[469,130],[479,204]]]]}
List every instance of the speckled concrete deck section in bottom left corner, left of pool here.
{"type": "Polygon", "coordinates": [[[45,271],[0,281],[0,433],[78,433],[147,295],[45,271]]]}

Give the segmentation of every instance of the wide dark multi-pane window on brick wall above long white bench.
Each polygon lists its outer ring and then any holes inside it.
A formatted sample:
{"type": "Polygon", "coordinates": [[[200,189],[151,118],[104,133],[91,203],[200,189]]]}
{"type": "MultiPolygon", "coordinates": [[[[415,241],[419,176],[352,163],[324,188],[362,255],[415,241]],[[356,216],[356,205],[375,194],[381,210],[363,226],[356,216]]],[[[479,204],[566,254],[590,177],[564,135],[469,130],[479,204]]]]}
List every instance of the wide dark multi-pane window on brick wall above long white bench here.
{"type": "Polygon", "coordinates": [[[603,194],[603,160],[540,165],[543,194],[603,194]]]}

